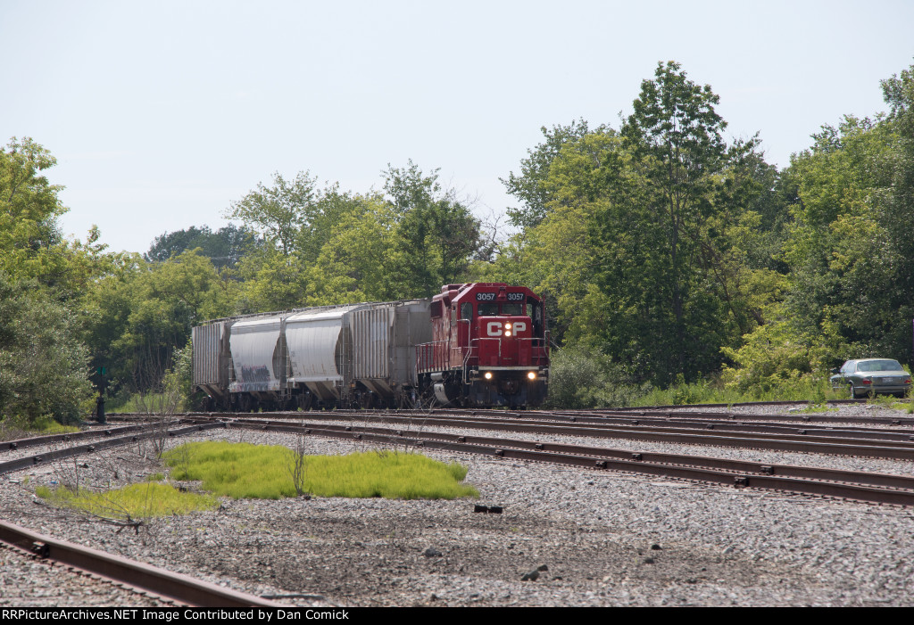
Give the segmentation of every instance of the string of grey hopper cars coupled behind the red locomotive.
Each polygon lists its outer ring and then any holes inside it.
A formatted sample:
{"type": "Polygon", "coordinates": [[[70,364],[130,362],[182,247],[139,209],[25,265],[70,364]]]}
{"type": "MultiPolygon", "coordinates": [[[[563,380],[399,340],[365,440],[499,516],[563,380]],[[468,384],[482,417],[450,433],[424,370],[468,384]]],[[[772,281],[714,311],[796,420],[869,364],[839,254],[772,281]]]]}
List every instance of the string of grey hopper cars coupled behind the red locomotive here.
{"type": "Polygon", "coordinates": [[[210,410],[411,407],[430,300],[301,308],[193,329],[194,384],[210,410]]]}

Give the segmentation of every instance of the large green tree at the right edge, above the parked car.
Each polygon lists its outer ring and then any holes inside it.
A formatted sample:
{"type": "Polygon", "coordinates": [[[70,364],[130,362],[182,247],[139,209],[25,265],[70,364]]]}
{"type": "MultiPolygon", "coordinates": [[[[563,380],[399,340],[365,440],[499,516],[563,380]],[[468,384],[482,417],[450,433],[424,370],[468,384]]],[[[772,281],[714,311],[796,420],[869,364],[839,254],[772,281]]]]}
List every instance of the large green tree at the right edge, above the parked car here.
{"type": "Polygon", "coordinates": [[[834,325],[833,362],[910,355],[914,317],[914,88],[911,70],[883,81],[888,116],[846,116],[792,159],[797,188],[785,245],[796,325],[834,325]]]}

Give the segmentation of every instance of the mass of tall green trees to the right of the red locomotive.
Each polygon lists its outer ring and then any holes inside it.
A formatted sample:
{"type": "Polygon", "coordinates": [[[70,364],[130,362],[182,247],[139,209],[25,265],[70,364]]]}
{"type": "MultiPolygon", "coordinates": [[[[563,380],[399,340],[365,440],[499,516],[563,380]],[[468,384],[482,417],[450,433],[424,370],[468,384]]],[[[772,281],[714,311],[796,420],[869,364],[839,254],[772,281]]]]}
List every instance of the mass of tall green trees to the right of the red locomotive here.
{"type": "MultiPolygon", "coordinates": [[[[824,398],[844,359],[909,357],[912,77],[883,82],[887,116],[824,127],[778,172],[756,138],[725,143],[709,86],[658,64],[618,135],[544,130],[503,181],[524,230],[476,276],[547,295],[555,339],[667,387],[667,402],[824,398]]],[[[563,404],[600,404],[552,381],[563,404]]]]}

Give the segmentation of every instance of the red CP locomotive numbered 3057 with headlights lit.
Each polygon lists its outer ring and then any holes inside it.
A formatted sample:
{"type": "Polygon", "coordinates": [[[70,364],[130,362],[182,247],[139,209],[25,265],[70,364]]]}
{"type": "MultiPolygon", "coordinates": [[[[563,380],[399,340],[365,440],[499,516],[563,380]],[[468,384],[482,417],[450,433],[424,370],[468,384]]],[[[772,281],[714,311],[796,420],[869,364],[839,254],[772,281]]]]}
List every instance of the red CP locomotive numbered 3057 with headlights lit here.
{"type": "Polygon", "coordinates": [[[546,399],[546,315],[529,288],[442,286],[430,317],[432,341],[416,349],[424,394],[461,406],[537,406],[546,399]]]}

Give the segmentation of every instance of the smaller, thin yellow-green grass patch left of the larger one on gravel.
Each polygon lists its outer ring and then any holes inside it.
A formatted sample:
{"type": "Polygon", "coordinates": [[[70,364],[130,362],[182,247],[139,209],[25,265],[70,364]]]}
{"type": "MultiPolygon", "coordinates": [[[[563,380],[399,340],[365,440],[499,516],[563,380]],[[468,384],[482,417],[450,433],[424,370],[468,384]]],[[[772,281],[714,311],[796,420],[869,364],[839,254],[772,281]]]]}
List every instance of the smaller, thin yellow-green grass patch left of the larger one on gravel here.
{"type": "Polygon", "coordinates": [[[174,486],[153,482],[130,484],[104,493],[83,489],[74,493],[69,488],[51,490],[48,486],[38,486],[35,494],[53,505],[122,520],[183,515],[194,510],[210,510],[219,503],[212,495],[185,493],[174,486]]]}

